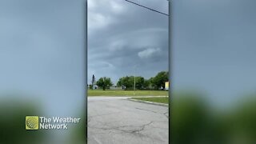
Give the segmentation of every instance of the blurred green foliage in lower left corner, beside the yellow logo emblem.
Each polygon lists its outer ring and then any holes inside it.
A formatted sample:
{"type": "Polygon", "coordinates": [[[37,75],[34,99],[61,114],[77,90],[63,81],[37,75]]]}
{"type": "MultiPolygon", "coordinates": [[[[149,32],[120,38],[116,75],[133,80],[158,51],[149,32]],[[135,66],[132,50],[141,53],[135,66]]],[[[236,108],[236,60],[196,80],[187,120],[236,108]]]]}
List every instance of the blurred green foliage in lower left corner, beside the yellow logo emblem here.
{"type": "MultiPolygon", "coordinates": [[[[36,102],[36,101],[34,101],[36,102]]],[[[40,115],[39,107],[31,101],[22,101],[12,95],[1,96],[0,101],[0,143],[37,144],[42,143],[46,134],[40,130],[26,130],[26,115],[40,115]]]]}

